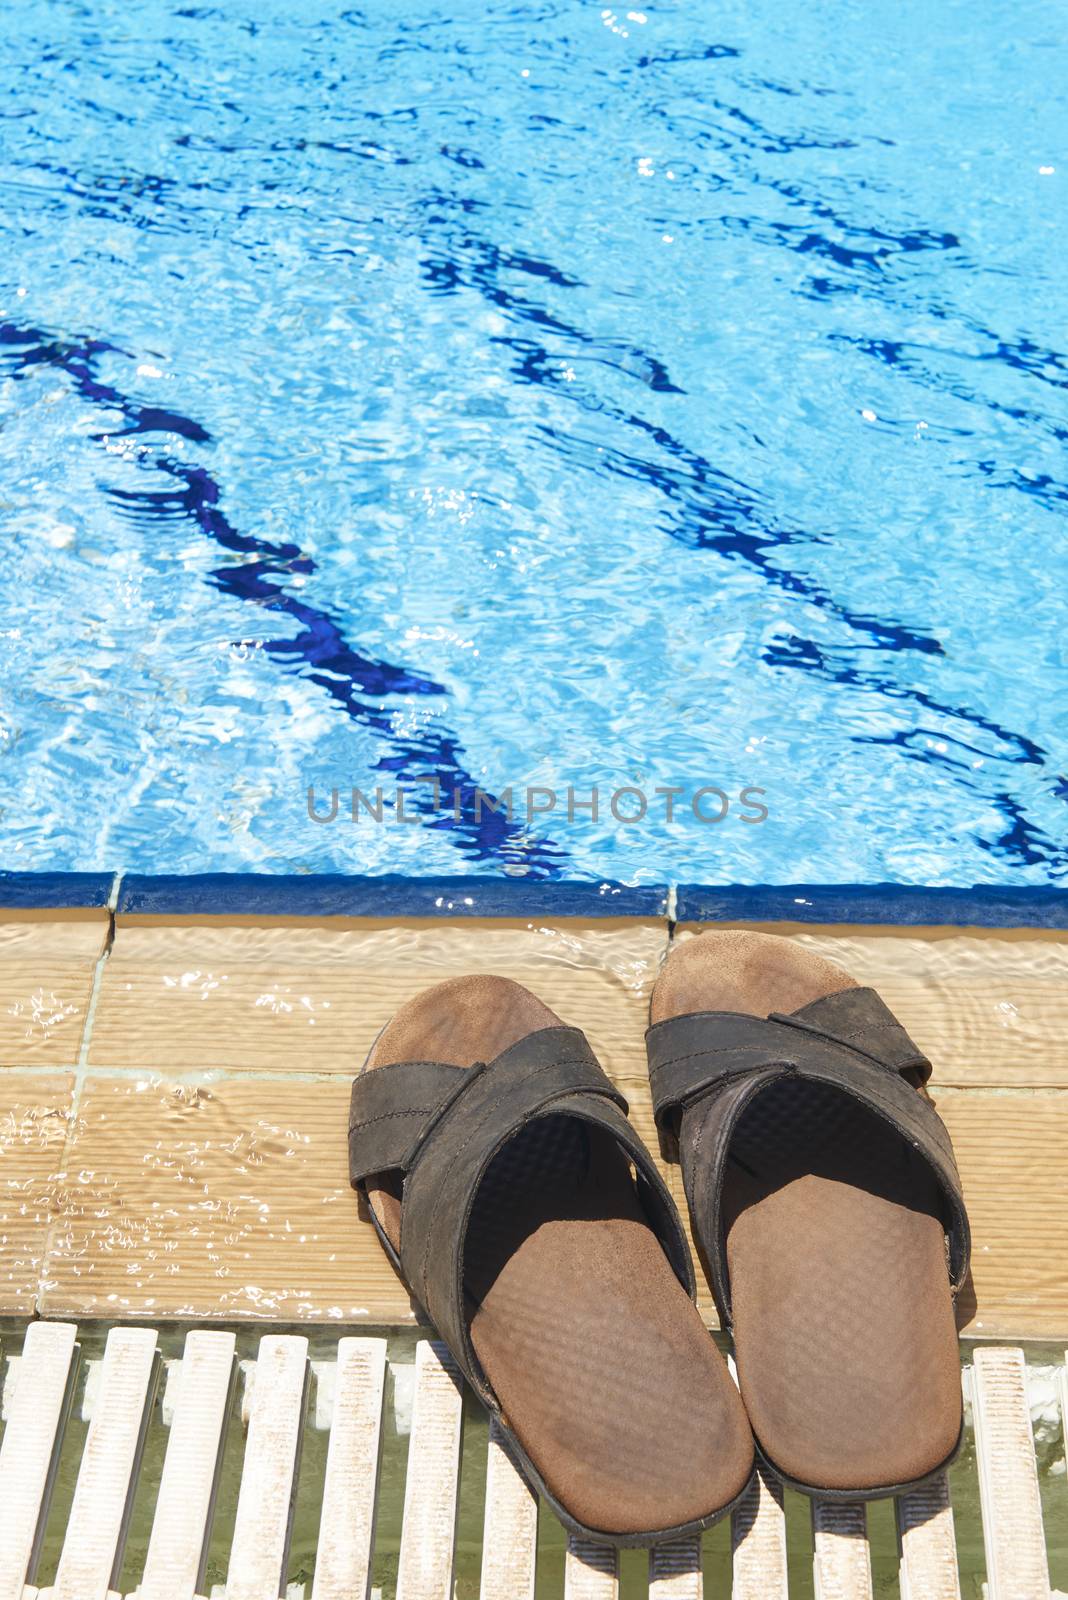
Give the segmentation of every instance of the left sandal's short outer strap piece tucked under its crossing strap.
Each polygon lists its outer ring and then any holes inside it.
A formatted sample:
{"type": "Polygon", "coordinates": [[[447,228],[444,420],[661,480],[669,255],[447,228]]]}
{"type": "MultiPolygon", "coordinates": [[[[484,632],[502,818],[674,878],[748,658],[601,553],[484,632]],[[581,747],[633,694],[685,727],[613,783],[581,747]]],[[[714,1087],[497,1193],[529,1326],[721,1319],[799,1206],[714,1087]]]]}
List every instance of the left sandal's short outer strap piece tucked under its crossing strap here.
{"type": "Polygon", "coordinates": [[[349,1181],[406,1173],[427,1126],[468,1077],[467,1067],[443,1061],[398,1061],[361,1072],[349,1102],[349,1181]]]}

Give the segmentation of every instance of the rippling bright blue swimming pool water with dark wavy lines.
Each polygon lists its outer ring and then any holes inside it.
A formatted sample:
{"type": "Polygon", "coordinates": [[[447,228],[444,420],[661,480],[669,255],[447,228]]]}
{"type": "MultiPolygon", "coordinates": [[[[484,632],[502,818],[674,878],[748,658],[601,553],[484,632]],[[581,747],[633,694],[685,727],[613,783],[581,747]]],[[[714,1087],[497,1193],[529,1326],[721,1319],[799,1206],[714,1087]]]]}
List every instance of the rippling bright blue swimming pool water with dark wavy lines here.
{"type": "Polygon", "coordinates": [[[1065,85],[1036,0],[6,0],[0,866],[1065,882],[1065,85]]]}

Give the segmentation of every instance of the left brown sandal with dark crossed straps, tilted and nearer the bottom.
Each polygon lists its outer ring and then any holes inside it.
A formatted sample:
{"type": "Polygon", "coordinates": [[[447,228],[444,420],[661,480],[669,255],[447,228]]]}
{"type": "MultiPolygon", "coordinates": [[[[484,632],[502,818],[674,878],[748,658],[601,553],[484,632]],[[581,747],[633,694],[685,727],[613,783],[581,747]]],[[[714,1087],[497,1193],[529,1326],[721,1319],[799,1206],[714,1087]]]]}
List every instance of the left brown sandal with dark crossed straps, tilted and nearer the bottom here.
{"type": "Polygon", "coordinates": [[[678,1213],[585,1037],[505,978],[403,1006],[355,1080],[390,1261],[574,1533],[652,1544],[745,1490],[753,1437],[678,1213]]]}

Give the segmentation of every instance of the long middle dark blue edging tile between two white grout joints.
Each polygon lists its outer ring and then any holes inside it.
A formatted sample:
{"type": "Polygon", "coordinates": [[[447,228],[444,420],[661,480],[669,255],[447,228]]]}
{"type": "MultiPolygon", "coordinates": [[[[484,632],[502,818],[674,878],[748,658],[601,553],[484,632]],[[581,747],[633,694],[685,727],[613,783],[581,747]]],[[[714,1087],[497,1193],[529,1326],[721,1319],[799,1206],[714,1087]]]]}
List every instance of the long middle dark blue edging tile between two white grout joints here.
{"type": "Polygon", "coordinates": [[[523,878],[272,877],[209,872],[123,878],[118,910],[251,917],[664,917],[667,885],[526,883],[523,878]]]}

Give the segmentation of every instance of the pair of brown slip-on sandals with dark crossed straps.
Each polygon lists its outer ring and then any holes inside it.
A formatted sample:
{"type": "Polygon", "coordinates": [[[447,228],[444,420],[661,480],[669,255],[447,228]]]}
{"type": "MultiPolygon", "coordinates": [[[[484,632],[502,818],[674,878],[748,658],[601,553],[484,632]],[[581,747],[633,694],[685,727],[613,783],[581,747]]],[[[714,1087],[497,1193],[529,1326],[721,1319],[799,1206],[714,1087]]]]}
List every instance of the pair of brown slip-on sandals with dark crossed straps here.
{"type": "Polygon", "coordinates": [[[755,1453],[822,1498],[943,1470],[969,1230],[931,1064],[871,989],[755,933],[681,944],[646,1037],[737,1387],[579,1029],[508,979],[459,978],[403,1006],[353,1083],[352,1182],[520,1469],[616,1546],[710,1526],[755,1453]]]}

